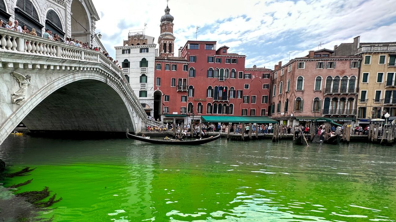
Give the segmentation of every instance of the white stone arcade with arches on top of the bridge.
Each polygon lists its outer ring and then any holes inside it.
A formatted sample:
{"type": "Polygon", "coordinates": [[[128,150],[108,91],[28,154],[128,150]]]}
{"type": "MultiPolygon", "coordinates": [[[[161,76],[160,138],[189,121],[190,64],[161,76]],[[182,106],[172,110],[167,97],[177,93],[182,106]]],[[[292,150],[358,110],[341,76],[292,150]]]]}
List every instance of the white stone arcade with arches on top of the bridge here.
{"type": "Polygon", "coordinates": [[[91,0],[0,0],[0,19],[4,23],[18,20],[20,26],[26,25],[30,31],[34,28],[40,37],[49,29],[62,38],[99,43],[91,38],[99,20],[91,0]]]}

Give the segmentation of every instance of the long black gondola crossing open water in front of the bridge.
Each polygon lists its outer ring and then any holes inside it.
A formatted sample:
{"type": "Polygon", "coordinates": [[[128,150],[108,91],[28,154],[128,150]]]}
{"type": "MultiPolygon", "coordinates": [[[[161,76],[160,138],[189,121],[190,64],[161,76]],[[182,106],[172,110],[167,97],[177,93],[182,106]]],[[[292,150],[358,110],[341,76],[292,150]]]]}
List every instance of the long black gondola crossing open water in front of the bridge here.
{"type": "Polygon", "coordinates": [[[154,144],[163,144],[163,145],[201,145],[205,143],[209,143],[211,141],[215,141],[221,137],[221,134],[216,136],[211,136],[206,139],[196,139],[196,140],[159,140],[159,139],[150,139],[145,138],[137,135],[130,134],[127,130],[126,137],[129,139],[136,139],[139,141],[147,142],[147,143],[154,143],[154,144]]]}

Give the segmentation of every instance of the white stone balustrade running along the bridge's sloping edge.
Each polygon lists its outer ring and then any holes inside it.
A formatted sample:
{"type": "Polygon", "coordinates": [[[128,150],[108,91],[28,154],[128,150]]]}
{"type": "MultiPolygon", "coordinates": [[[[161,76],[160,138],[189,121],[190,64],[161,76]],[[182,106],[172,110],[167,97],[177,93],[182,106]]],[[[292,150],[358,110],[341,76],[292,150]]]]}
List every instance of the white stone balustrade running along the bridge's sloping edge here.
{"type": "Polygon", "coordinates": [[[32,36],[30,34],[19,33],[5,28],[0,28],[0,51],[86,61],[105,66],[107,70],[110,70],[109,73],[112,73],[112,76],[118,79],[121,88],[128,89],[122,91],[130,98],[129,103],[133,105],[137,114],[144,122],[147,121],[147,116],[141,107],[139,99],[133,93],[133,90],[123,75],[122,70],[114,64],[114,62],[110,61],[109,58],[103,55],[102,52],[76,47],[74,45],[38,36],[32,36]]]}

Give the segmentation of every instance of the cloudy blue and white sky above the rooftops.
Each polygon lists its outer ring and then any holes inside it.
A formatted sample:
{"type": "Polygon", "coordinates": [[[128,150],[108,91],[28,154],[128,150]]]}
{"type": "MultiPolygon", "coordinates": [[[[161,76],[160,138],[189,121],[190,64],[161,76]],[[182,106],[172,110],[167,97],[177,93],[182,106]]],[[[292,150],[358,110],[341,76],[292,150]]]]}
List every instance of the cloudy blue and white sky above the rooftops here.
{"type": "MultiPolygon", "coordinates": [[[[93,0],[101,19],[106,49],[143,29],[158,40],[166,0],[93,0]]],[[[176,37],[175,49],[187,40],[217,41],[229,52],[247,55],[246,67],[274,68],[278,61],[305,56],[309,50],[352,42],[396,41],[396,0],[169,0],[176,37]]],[[[158,48],[158,46],[157,46],[158,48]]]]}

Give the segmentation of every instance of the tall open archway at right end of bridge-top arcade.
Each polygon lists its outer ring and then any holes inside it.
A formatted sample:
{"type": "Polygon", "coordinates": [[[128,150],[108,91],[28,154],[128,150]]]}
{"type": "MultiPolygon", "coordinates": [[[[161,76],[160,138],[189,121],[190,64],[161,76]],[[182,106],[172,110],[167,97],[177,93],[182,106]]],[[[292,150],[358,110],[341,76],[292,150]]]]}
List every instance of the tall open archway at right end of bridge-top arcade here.
{"type": "Polygon", "coordinates": [[[71,6],[71,38],[80,40],[82,42],[89,42],[90,40],[90,25],[87,12],[78,0],[73,0],[71,6]]]}

